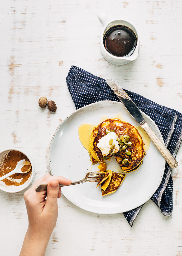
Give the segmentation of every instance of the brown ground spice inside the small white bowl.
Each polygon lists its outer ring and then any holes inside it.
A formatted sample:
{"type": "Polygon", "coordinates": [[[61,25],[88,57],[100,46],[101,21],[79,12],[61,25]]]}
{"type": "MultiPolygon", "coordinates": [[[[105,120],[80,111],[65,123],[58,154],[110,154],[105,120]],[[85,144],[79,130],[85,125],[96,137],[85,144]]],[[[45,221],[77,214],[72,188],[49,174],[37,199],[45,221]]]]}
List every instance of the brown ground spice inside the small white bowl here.
{"type": "MultiPolygon", "coordinates": [[[[23,153],[15,150],[12,150],[8,154],[4,155],[0,162],[0,177],[14,170],[17,163],[22,159],[29,161],[23,153]]],[[[6,179],[3,179],[2,181],[7,186],[20,186],[28,180],[28,178],[31,176],[31,173],[31,170],[28,173],[23,174],[15,173],[6,179]]]]}

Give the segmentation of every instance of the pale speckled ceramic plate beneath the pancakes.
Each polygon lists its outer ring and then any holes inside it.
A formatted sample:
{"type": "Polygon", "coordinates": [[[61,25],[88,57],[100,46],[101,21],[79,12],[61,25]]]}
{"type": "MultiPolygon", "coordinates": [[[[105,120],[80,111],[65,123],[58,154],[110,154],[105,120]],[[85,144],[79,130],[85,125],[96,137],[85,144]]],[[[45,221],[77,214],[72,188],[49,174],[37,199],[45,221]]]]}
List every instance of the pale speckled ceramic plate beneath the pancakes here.
{"type": "MultiPolygon", "coordinates": [[[[83,179],[88,171],[98,171],[91,165],[89,154],[78,136],[82,123],[98,123],[103,115],[113,118],[121,112],[125,121],[138,125],[123,104],[116,101],[100,101],[78,109],[68,116],[55,131],[49,149],[49,164],[52,175],[61,175],[72,181],[83,179]]],[[[146,121],[163,141],[156,124],[144,114],[146,121]]],[[[107,161],[113,171],[120,171],[116,161],[107,161]]],[[[90,212],[99,214],[122,213],[134,209],[155,193],[164,174],[165,160],[151,142],[143,164],[138,170],[128,173],[119,189],[111,195],[102,197],[96,183],[85,182],[61,188],[63,195],[73,204],[90,212]]]]}

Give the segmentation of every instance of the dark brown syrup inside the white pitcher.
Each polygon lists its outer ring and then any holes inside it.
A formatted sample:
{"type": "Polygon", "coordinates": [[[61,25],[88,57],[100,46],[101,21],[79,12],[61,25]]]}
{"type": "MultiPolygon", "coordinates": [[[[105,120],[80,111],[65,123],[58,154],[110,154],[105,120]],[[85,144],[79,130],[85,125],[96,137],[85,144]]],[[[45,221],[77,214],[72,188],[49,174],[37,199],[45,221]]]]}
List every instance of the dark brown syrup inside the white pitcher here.
{"type": "Polygon", "coordinates": [[[106,50],[114,56],[130,56],[135,51],[137,37],[130,28],[116,25],[106,31],[103,43],[106,50]]]}

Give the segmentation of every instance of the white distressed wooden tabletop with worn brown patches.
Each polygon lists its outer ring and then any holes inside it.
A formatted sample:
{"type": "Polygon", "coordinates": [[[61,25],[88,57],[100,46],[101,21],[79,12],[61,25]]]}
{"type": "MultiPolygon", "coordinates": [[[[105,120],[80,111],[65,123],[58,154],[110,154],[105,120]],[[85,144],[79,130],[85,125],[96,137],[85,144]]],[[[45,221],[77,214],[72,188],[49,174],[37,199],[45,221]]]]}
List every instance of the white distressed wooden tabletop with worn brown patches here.
{"type": "MultiPolygon", "coordinates": [[[[75,107],[66,85],[71,65],[182,112],[181,0],[1,0],[0,150],[26,149],[35,180],[49,173],[48,151],[54,131],[75,107]],[[140,31],[136,61],[115,66],[99,50],[103,11],[133,22],[140,31]],[[38,100],[54,100],[57,111],[38,100]]],[[[182,255],[182,174],[174,181],[171,217],[149,200],[131,228],[123,214],[101,215],[78,208],[64,196],[46,255],[182,255]]],[[[0,191],[0,254],[19,255],[28,219],[23,193],[0,191]]]]}

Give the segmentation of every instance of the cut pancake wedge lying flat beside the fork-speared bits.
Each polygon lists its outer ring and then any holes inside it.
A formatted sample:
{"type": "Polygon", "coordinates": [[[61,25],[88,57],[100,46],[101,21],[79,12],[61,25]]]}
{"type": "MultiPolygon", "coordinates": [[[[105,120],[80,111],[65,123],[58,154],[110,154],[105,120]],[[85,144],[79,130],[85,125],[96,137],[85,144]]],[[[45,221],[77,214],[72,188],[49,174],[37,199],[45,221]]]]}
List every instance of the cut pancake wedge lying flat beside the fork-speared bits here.
{"type": "Polygon", "coordinates": [[[115,173],[114,171],[112,171],[112,176],[109,185],[107,186],[105,191],[102,189],[102,196],[114,193],[119,188],[125,177],[126,174],[115,173]]]}

